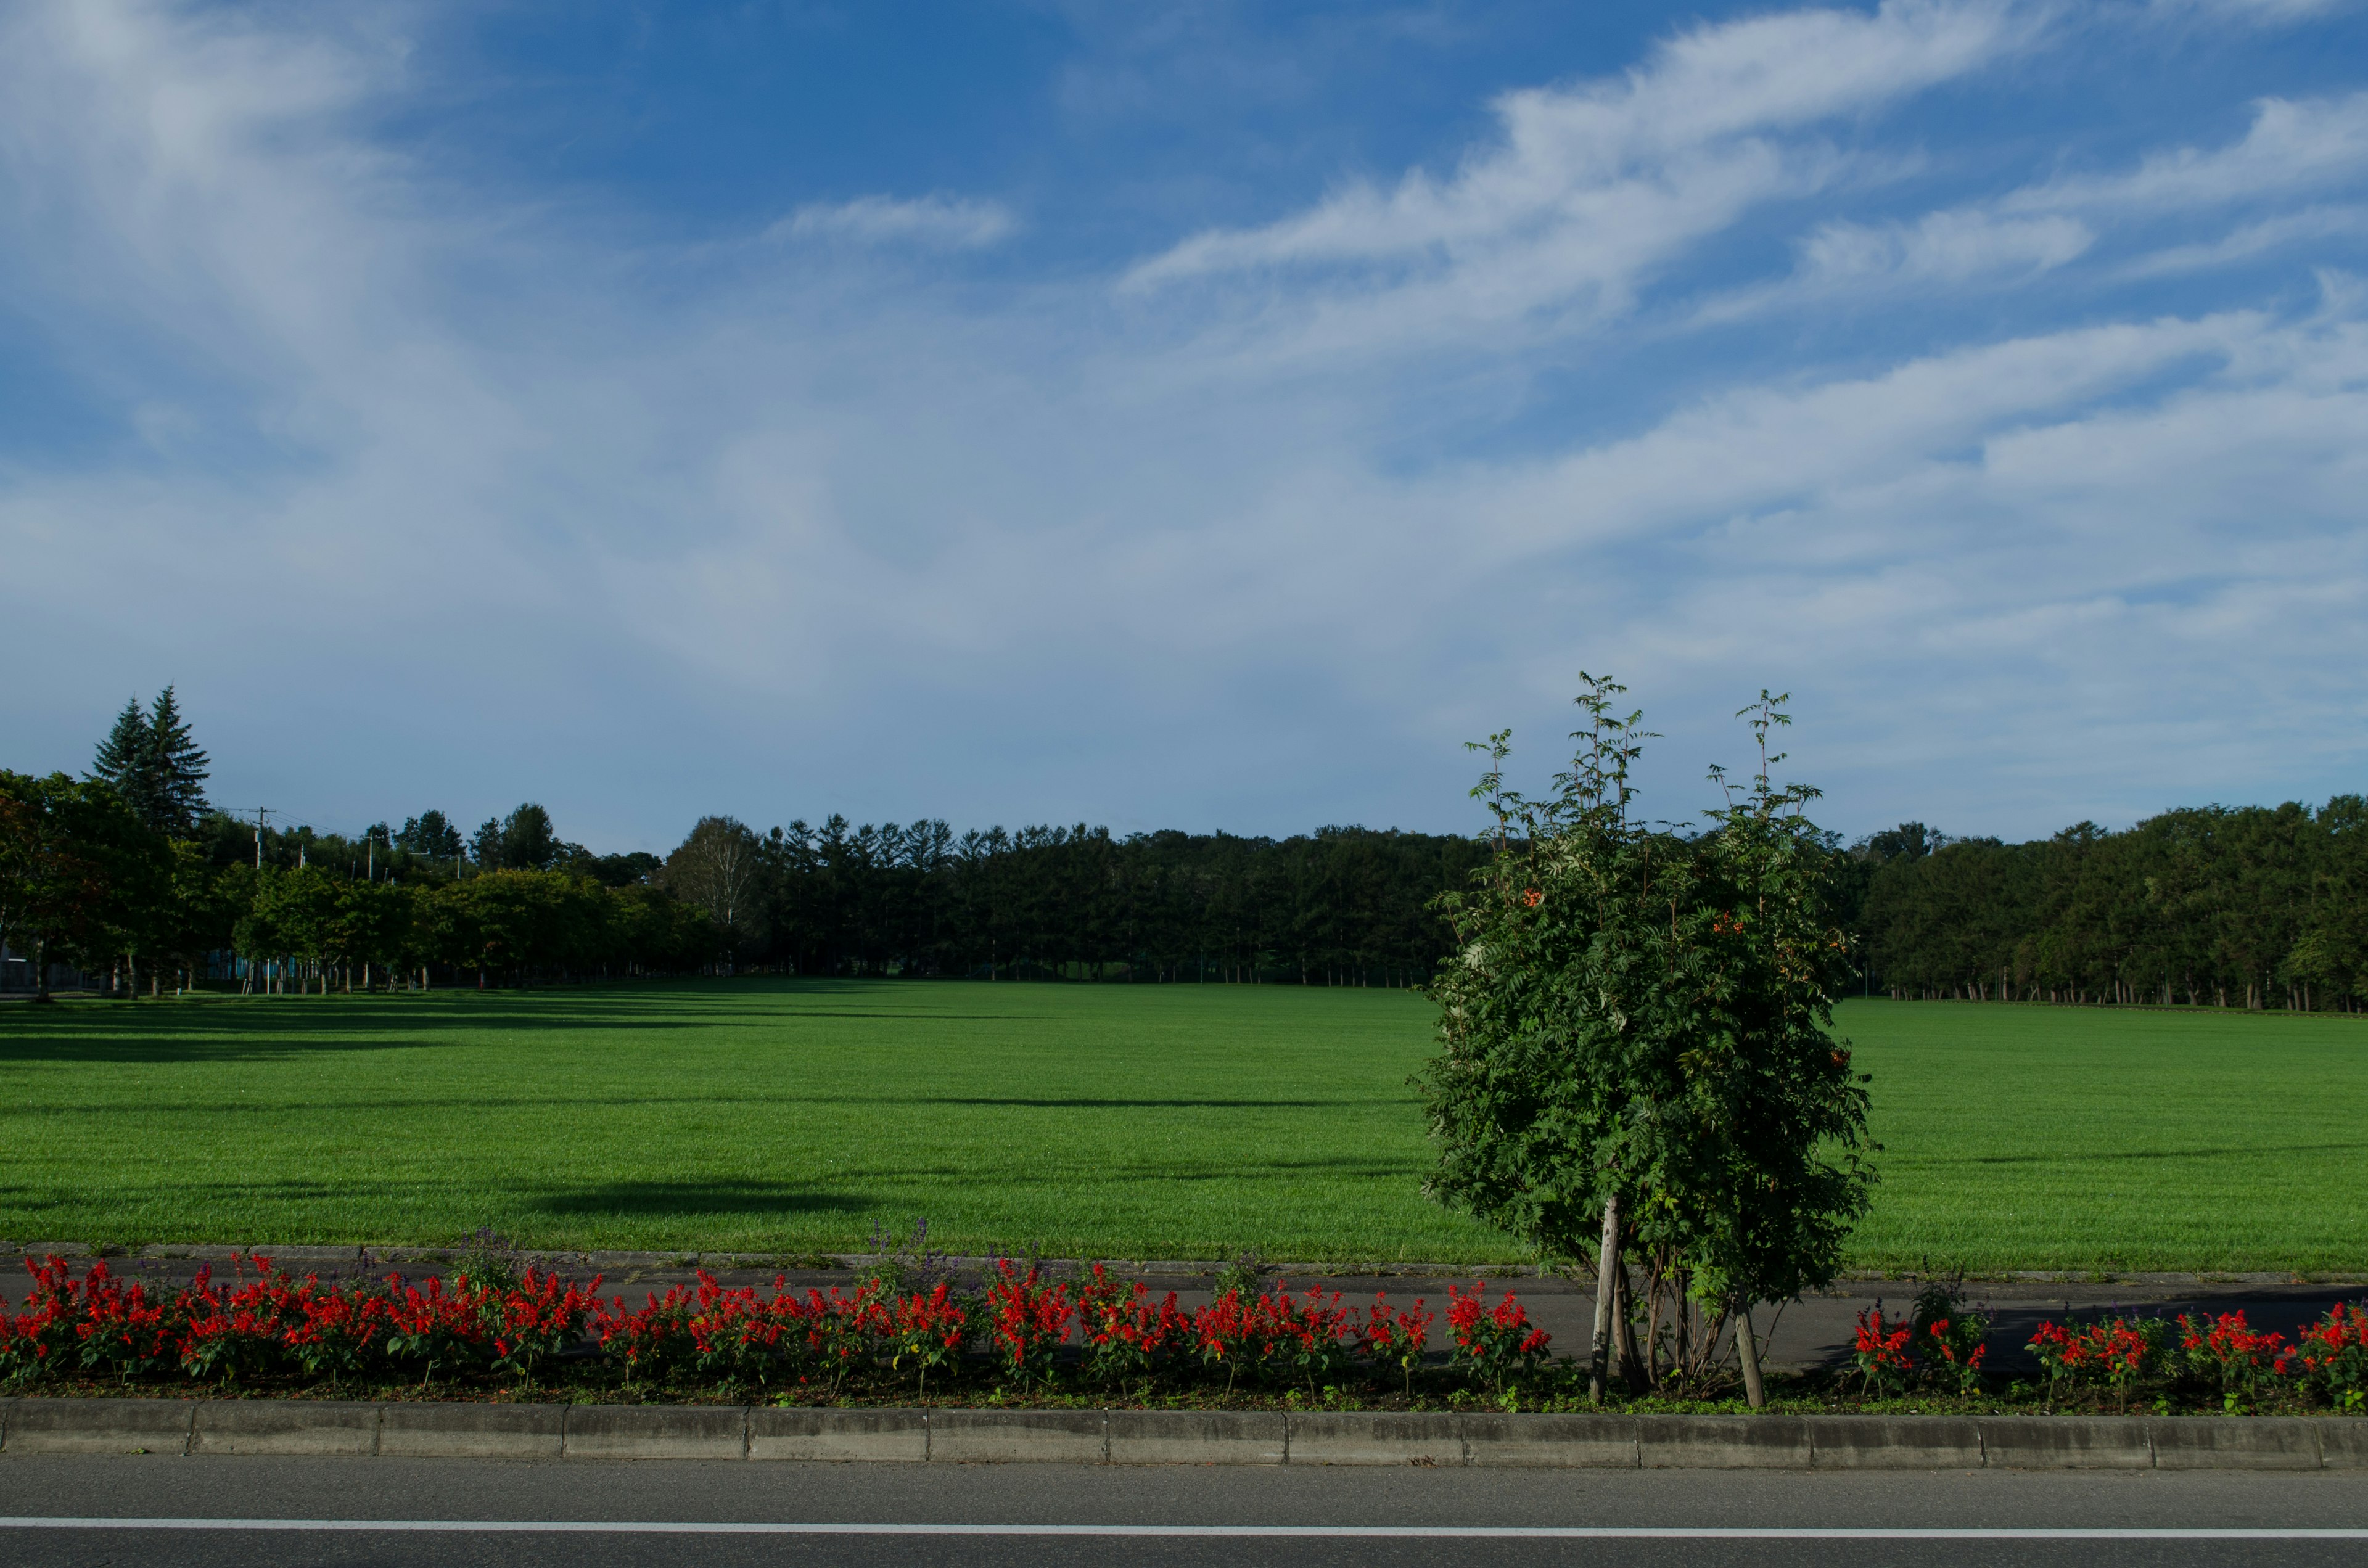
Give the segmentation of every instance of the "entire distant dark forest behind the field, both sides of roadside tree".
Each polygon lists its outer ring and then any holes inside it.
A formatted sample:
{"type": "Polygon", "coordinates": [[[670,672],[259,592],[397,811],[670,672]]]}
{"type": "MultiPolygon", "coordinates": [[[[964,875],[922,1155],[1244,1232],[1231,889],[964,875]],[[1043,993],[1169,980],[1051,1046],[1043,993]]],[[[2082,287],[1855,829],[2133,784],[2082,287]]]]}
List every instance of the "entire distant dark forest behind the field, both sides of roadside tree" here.
{"type": "MultiPolygon", "coordinates": [[[[1326,827],[1288,838],[829,817],[703,817],[665,857],[597,855],[535,803],[343,836],[204,798],[166,689],[83,779],[0,772],[0,938],[109,990],[504,983],[774,971],[1409,985],[1452,933],[1435,898],[1480,838],[1326,827]],[[173,978],[166,978],[173,976],[173,978]]],[[[2359,1011],[2368,803],[2195,808],[2036,843],[1920,822],[1833,855],[1833,919],[1868,995],[2359,1011]]],[[[38,983],[12,964],[0,985],[38,983]]]]}

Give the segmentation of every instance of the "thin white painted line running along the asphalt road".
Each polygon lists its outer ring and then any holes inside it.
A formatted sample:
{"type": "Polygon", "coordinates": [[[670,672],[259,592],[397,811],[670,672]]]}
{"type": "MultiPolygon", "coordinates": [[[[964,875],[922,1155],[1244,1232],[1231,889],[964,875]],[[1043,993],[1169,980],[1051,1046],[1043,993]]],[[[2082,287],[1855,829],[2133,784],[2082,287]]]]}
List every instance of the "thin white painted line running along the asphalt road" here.
{"type": "Polygon", "coordinates": [[[639,1518],[92,1518],[0,1516],[9,1530],[443,1530],[547,1535],[1167,1535],[1167,1537],[1352,1537],[1352,1540],[2368,1540],[2359,1530],[2077,1530],[2048,1525],[874,1525],[774,1521],[639,1518]]]}

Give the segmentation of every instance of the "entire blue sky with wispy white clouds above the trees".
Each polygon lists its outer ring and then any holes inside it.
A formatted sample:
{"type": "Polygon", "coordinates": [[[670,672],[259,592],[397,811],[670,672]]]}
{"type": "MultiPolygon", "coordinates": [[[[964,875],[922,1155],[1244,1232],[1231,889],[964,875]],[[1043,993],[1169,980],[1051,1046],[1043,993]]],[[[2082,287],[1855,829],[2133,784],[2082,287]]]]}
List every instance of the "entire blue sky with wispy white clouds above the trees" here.
{"type": "Polygon", "coordinates": [[[2344,5],[0,19],[0,765],[322,827],[2363,779],[2344,5]]]}

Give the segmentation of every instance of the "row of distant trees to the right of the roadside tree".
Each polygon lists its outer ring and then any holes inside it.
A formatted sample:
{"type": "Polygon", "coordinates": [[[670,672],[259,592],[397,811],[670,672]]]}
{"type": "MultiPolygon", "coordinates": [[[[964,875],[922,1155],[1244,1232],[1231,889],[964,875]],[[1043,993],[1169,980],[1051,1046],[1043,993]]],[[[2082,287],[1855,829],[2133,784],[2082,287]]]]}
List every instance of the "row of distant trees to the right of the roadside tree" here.
{"type": "Polygon", "coordinates": [[[2034,843],[1909,822],[1859,843],[1861,985],[1977,1002],[2359,1011],[2368,801],[2193,808],[2034,843]]]}

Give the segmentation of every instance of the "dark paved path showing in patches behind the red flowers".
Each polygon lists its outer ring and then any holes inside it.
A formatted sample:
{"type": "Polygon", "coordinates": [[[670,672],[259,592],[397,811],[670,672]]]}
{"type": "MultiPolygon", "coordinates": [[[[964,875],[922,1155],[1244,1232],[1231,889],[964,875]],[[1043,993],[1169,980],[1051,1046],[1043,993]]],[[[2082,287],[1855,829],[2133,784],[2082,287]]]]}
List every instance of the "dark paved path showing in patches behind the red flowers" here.
{"type": "MultiPolygon", "coordinates": [[[[268,1251],[268,1248],[265,1248],[268,1251]]],[[[317,1248],[305,1248],[317,1251],[317,1248]]],[[[0,1253],[5,1258],[5,1253],[0,1253]]],[[[282,1267],[303,1274],[317,1270],[322,1277],[336,1272],[353,1272],[350,1255],[341,1255],[341,1262],[313,1260],[282,1260],[282,1267]]],[[[76,1260],[76,1272],[83,1262],[76,1260]]],[[[121,1274],[133,1274],[152,1279],[163,1286],[185,1284],[199,1262],[189,1258],[114,1258],[109,1260],[121,1274]]],[[[218,1272],[227,1272],[215,1265],[218,1272]]],[[[386,1265],[400,1267],[412,1274],[436,1272],[436,1265],[386,1265]]],[[[630,1303],[639,1303],[649,1291],[663,1291],[670,1284],[687,1284],[691,1279],[689,1267],[654,1265],[644,1260],[616,1260],[616,1258],[587,1258],[583,1262],[571,1262],[561,1272],[590,1277],[601,1272],[606,1277],[606,1293],[623,1293],[630,1303]]],[[[715,1270],[715,1277],[725,1284],[772,1284],[774,1270],[715,1270]]],[[[789,1281],[798,1289],[805,1286],[845,1286],[850,1274],[845,1270],[791,1270],[789,1281]]],[[[1205,1274],[1148,1274],[1158,1289],[1175,1289],[1186,1307],[1208,1300],[1208,1277],[1205,1274]]],[[[1340,1291],[1350,1303],[1369,1303],[1373,1291],[1388,1291],[1390,1300],[1426,1298],[1440,1319],[1433,1324],[1430,1338],[1433,1350],[1447,1348],[1447,1286],[1471,1286],[1468,1277],[1409,1277],[1409,1274],[1340,1274],[1317,1279],[1293,1279],[1291,1284],[1305,1289],[1310,1284],[1321,1284],[1326,1291],[1340,1291]]],[[[21,1300],[26,1277],[21,1270],[9,1267],[7,1277],[0,1277],[0,1296],[9,1300],[21,1300]]],[[[1594,1331],[1594,1293],[1568,1281],[1568,1279],[1539,1279],[1539,1277],[1497,1277],[1487,1281],[1489,1300],[1504,1291],[1513,1291],[1527,1305],[1532,1322],[1553,1336],[1553,1350],[1558,1355],[1579,1355],[1587,1348],[1589,1334],[1594,1331]]],[[[2200,1279],[2190,1274],[2153,1274],[2153,1277],[2129,1277],[2112,1281],[1970,1281],[1963,1286],[1965,1300],[1987,1307],[1996,1324],[1991,1329],[1989,1364],[1999,1371],[2025,1371],[2032,1369],[2029,1357],[2022,1345],[2029,1341],[2032,1329],[2041,1319],[2063,1319],[2072,1312],[2145,1312],[2150,1317],[2179,1317],[2181,1312],[2235,1312],[2242,1310],[2254,1329],[2273,1329],[2292,1338],[2295,1329],[2306,1322],[2318,1319],[2337,1300],[2361,1300],[2368,1296],[2368,1284],[2299,1284],[2278,1281],[2271,1277],[2242,1277],[2242,1279],[2200,1279]]],[[[1849,1362],[1852,1334],[1857,1329],[1859,1312],[1873,1307],[1878,1300],[1894,1317],[1904,1315],[1909,1303],[1916,1300],[1916,1281],[1842,1281],[1828,1293],[1809,1296],[1804,1300],[1790,1303],[1774,1319],[1774,1345],[1769,1352],[1776,1367],[1833,1367],[1849,1362]]],[[[1767,1310],[1762,1310],[1759,1331],[1769,1331],[1767,1310]]]]}

